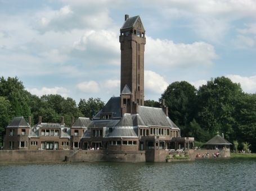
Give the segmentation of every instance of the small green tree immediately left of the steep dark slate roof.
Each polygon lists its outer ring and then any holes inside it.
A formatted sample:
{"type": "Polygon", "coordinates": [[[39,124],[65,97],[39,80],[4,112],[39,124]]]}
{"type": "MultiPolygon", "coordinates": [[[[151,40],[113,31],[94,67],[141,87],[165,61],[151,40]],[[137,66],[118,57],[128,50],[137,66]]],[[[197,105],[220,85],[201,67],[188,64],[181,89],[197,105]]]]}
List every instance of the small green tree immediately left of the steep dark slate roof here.
{"type": "Polygon", "coordinates": [[[93,111],[94,115],[96,115],[98,111],[104,107],[104,105],[104,101],[101,101],[100,98],[93,99],[90,97],[88,100],[80,99],[78,108],[84,117],[91,118],[93,116],[93,111]]]}

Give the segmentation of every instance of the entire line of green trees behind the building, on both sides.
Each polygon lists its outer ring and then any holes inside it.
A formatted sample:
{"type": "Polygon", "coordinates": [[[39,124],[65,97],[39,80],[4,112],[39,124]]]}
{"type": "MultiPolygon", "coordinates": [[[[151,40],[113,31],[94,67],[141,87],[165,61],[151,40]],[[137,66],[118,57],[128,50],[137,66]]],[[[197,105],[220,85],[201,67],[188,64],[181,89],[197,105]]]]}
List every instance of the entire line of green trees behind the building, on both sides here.
{"type": "MultiPolygon", "coordinates": [[[[242,91],[240,83],[229,78],[211,78],[198,89],[186,81],[173,82],[161,94],[159,101],[145,100],[145,106],[159,107],[165,99],[169,118],[181,128],[182,137],[195,137],[205,143],[217,132],[242,148],[242,143],[256,146],[256,94],[242,91]]],[[[71,126],[71,117],[92,117],[105,105],[100,98],[75,100],[61,95],[38,97],[25,90],[17,77],[0,78],[0,144],[5,127],[15,116],[32,117],[32,125],[43,122],[60,123],[71,126]]]]}

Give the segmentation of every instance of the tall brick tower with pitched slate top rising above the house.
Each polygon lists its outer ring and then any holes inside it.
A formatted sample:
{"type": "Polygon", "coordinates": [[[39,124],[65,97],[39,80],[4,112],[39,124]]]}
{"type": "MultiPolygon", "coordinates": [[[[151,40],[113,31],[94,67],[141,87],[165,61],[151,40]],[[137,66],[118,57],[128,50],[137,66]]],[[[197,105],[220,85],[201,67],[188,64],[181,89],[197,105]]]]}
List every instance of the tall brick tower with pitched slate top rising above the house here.
{"type": "Polygon", "coordinates": [[[145,29],[140,16],[129,18],[120,29],[122,115],[136,113],[136,105],[144,105],[145,29]]]}

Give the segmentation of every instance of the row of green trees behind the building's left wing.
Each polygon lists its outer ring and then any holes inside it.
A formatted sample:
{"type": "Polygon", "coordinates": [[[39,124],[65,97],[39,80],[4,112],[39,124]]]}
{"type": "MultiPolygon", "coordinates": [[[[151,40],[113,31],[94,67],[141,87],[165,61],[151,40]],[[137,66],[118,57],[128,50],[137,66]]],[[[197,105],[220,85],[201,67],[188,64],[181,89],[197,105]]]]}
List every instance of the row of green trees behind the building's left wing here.
{"type": "Polygon", "coordinates": [[[38,123],[38,116],[42,116],[45,123],[60,123],[61,117],[65,124],[71,126],[71,118],[89,117],[97,114],[105,105],[100,98],[75,100],[61,95],[43,95],[38,97],[25,90],[23,82],[17,77],[0,78],[0,146],[8,123],[15,116],[23,116],[26,120],[32,117],[32,125],[38,123]]]}

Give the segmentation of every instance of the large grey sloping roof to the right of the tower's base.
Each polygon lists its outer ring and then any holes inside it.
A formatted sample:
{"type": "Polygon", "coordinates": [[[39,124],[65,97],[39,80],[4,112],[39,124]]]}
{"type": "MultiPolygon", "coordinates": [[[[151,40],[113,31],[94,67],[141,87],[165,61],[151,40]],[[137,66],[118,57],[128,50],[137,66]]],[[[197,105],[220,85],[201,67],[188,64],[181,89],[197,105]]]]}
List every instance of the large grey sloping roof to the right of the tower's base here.
{"type": "Polygon", "coordinates": [[[172,120],[167,117],[161,108],[151,108],[146,106],[138,106],[138,125],[158,125],[165,127],[178,128],[172,120]]]}

